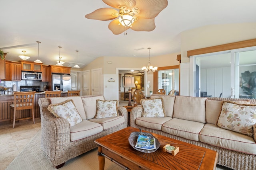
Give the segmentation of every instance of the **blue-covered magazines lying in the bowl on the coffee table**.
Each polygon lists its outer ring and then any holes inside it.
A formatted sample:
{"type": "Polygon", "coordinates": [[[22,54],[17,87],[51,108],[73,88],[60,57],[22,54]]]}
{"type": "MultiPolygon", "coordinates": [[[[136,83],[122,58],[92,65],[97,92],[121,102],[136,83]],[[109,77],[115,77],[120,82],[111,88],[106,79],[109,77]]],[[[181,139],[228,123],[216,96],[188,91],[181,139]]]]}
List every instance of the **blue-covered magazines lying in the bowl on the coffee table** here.
{"type": "Polygon", "coordinates": [[[150,139],[150,137],[139,135],[135,147],[138,149],[146,149],[146,150],[156,149],[156,139],[155,138],[150,139]]]}

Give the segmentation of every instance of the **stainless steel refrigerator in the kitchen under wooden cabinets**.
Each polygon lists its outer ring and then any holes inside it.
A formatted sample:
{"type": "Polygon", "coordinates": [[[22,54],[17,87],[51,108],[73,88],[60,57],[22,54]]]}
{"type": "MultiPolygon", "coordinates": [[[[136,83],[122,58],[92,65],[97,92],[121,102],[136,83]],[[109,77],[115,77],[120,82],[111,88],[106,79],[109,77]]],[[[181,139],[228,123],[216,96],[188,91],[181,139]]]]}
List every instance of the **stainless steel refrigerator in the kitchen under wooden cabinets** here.
{"type": "Polygon", "coordinates": [[[71,76],[66,74],[52,74],[52,91],[61,90],[68,92],[71,90],[71,76]]]}

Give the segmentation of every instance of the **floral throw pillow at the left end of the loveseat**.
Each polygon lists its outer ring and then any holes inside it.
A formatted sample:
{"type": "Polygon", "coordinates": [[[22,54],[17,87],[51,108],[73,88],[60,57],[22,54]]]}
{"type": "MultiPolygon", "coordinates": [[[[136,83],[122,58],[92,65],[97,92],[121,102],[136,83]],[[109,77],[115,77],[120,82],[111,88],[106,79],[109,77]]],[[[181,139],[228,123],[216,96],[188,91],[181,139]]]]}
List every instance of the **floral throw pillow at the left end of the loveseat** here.
{"type": "Polygon", "coordinates": [[[83,121],[79,115],[73,100],[66,100],[59,104],[50,104],[47,108],[55,117],[67,119],[70,127],[83,121]]]}

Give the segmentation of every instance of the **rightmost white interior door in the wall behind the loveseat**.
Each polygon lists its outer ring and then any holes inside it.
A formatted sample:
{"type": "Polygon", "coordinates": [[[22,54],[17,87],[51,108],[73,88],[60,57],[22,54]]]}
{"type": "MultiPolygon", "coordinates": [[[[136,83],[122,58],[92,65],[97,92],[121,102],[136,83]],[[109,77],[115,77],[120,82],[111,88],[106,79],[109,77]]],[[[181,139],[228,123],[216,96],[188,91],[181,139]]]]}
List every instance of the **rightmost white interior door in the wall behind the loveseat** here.
{"type": "Polygon", "coordinates": [[[101,68],[92,70],[92,95],[102,94],[101,68]]]}

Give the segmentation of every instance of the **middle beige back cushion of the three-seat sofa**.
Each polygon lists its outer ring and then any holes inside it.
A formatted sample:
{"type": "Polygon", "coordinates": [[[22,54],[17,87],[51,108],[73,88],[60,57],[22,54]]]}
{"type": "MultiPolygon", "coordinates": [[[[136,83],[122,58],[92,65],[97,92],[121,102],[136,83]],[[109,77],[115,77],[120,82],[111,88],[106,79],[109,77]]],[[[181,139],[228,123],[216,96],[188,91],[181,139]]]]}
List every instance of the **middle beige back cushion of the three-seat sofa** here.
{"type": "Polygon", "coordinates": [[[205,100],[188,96],[176,96],[173,117],[205,123],[205,100]]]}

